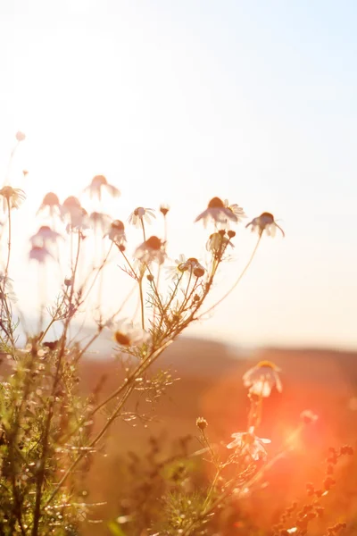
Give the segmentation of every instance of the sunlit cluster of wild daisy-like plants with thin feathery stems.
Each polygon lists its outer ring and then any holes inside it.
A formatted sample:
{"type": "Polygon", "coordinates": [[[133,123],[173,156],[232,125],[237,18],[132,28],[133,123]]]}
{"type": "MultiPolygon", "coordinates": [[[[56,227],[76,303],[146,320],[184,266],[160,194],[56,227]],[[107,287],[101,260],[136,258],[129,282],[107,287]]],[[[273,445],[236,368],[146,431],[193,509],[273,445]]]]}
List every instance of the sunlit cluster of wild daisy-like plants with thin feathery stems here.
{"type": "MultiPolygon", "coordinates": [[[[18,132],[16,139],[18,145],[25,140],[25,135],[18,132]]],[[[12,158],[14,155],[15,150],[12,158]]],[[[104,192],[114,198],[120,196],[119,189],[109,184],[104,175],[96,175],[85,193],[100,203],[104,192]]],[[[48,263],[58,264],[65,276],[54,301],[39,304],[38,330],[29,331],[16,308],[11,278],[12,214],[14,210],[21,210],[26,194],[5,181],[0,197],[3,201],[0,533],[4,536],[75,535],[79,534],[81,523],[90,510],[90,505],[79,494],[79,473],[90,470],[93,457],[112,423],[128,418],[129,401],[137,391],[144,391],[149,399],[161,396],[170,385],[170,374],[151,373],[154,362],[188,325],[202,319],[237,286],[263,236],[273,236],[276,230],[284,236],[284,231],[270,213],[263,213],[247,223],[245,227],[257,236],[253,253],[232,288],[204,309],[216,275],[234,247],[236,231],[233,226],[241,224],[245,218],[239,205],[212,197],[195,219],[210,226],[205,244],[207,258],[200,261],[180,255],[173,264],[167,255],[168,205],[161,205],[157,214],[152,208],[138,206],[127,220],[125,215],[119,220],[101,211],[88,214],[79,197],[70,196],[61,202],[54,192],[48,192],[38,207],[37,217],[42,221],[29,241],[29,262],[37,263],[39,271],[48,263]],[[161,237],[149,232],[150,222],[156,215],[162,219],[161,237]],[[126,225],[137,227],[134,245],[127,241],[126,225]],[[79,276],[81,255],[89,235],[101,242],[102,253],[97,264],[79,276]],[[63,255],[65,249],[67,254],[63,255]],[[63,258],[68,259],[65,266],[63,258]],[[131,285],[128,295],[109,316],[104,316],[98,306],[95,333],[86,344],[81,344],[71,339],[71,325],[95,292],[101,300],[105,269],[113,259],[119,264],[118,270],[126,273],[131,285]],[[123,307],[134,297],[137,297],[138,307],[134,307],[130,318],[122,317],[123,307]],[[50,337],[54,325],[61,326],[57,339],[50,337]],[[124,364],[124,377],[108,396],[101,398],[98,386],[86,398],[79,392],[79,364],[104,331],[112,332],[113,345],[119,361],[124,364]],[[21,332],[26,334],[23,345],[19,344],[21,332]],[[104,416],[99,428],[96,426],[98,416],[104,416]]],[[[262,419],[264,398],[270,396],[271,389],[282,389],[278,367],[270,362],[257,364],[245,373],[244,383],[251,403],[246,430],[234,432],[232,440],[222,448],[210,442],[207,422],[203,417],[198,418],[201,448],[190,453],[184,442],[179,453],[159,465],[155,461],[157,446],[153,442],[149,480],[155,482],[154,488],[148,488],[147,483],[145,487],[137,478],[135,501],[128,503],[134,507],[128,507],[125,515],[119,515],[117,521],[110,523],[112,534],[216,533],[216,519],[224,505],[232,500],[237,502],[249,493],[262,478],[265,468],[274,463],[266,450],[270,441],[261,439],[256,431],[262,419]],[[195,482],[193,475],[187,479],[188,471],[195,473],[197,459],[205,459],[212,465],[212,480],[208,485],[195,482]],[[150,504],[155,514],[152,509],[145,509],[145,504],[153,497],[153,489],[155,508],[153,501],[150,504]]],[[[314,419],[315,415],[303,415],[303,421],[314,419]]],[[[302,422],[296,433],[303,425],[302,422]]],[[[122,441],[125,442],[125,438],[122,441]]],[[[135,480],[140,473],[140,463],[134,462],[135,480]]],[[[316,512],[317,508],[300,515],[300,524],[285,529],[284,523],[280,523],[278,533],[305,534],[312,511],[316,512]]],[[[286,519],[287,516],[284,521],[286,519]]],[[[98,528],[97,533],[104,533],[101,531],[98,528]]]]}

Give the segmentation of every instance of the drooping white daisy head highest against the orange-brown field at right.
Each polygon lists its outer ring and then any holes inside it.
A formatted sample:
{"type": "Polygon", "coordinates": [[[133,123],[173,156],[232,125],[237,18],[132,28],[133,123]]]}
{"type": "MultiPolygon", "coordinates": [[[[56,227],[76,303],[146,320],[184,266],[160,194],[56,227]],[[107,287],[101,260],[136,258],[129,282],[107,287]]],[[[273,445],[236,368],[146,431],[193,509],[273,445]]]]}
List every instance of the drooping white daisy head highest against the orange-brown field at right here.
{"type": "Polygon", "coordinates": [[[245,387],[250,388],[250,393],[266,398],[270,396],[274,385],[278,392],[283,389],[278,372],[280,369],[276,364],[270,363],[270,361],[261,361],[244,374],[243,382],[245,387]]]}

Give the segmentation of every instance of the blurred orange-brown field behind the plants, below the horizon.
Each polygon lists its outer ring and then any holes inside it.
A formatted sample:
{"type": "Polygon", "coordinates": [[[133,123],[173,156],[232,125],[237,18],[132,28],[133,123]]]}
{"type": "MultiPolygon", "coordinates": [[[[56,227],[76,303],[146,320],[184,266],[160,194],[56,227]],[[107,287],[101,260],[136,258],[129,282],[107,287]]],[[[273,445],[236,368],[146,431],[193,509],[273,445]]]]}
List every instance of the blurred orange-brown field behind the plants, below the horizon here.
{"type": "MultiPolygon", "coordinates": [[[[109,357],[107,345],[103,348],[101,351],[99,344],[96,358],[87,358],[81,365],[80,389],[83,393],[90,393],[105,376],[104,396],[123,376],[120,363],[109,357]]],[[[303,438],[295,440],[294,450],[273,465],[261,482],[261,489],[241,501],[239,509],[243,508],[245,515],[253,519],[257,530],[259,527],[269,528],[283,507],[292,500],[306,498],[307,482],[313,482],[318,488],[324,478],[328,448],[339,448],[346,443],[356,447],[357,354],[323,349],[270,348],[248,356],[220,343],[182,338],[168,348],[156,364],[156,370],[170,369],[173,378],[178,380],[173,381],[154,406],[145,403],[138,393],[136,401],[128,408],[128,411],[137,409],[138,413],[152,420],[114,423],[83,481],[87,502],[106,503],[95,507],[91,521],[113,519],[122,514],[130,479],[123,473],[123,467],[128,465],[128,452],[145,456],[153,436],[167,446],[164,448],[170,448],[175,440],[189,434],[193,439],[189,441],[188,449],[193,452],[200,448],[195,439],[197,416],[204,416],[208,421],[209,436],[214,442],[226,444],[232,432],[245,430],[248,399],[242,375],[257,361],[265,359],[281,367],[283,381],[283,393],[273,392],[265,401],[262,426],[257,431],[258,435],[272,441],[270,456],[281,450],[304,409],[311,409],[319,415],[319,420],[304,431],[303,438]]],[[[326,513],[322,522],[314,522],[316,526],[311,524],[316,531],[311,534],[323,534],[322,525],[326,527],[328,523],[345,519],[352,531],[348,533],[357,533],[355,458],[345,459],[338,465],[336,488],[324,498],[326,513]]],[[[86,536],[106,533],[104,525],[86,523],[86,536]]],[[[245,533],[239,523],[232,528],[232,534],[245,533]]]]}

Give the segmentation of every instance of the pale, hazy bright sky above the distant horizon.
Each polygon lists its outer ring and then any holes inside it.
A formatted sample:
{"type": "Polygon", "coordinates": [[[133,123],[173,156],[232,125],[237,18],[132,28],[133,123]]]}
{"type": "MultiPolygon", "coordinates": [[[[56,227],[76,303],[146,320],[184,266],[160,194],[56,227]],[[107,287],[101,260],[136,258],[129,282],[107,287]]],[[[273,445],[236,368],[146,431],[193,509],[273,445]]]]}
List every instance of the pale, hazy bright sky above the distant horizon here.
{"type": "MultiPolygon", "coordinates": [[[[285,230],[262,241],[241,284],[190,334],[357,348],[356,22],[353,1],[4,0],[0,172],[28,195],[10,268],[22,310],[37,310],[44,278],[26,241],[42,197],[79,195],[104,174],[121,190],[105,205],[115,218],[170,204],[172,258],[204,257],[209,230],[194,220],[215,196],[243,206],[246,222],[268,211],[285,230]],[[18,130],[27,138],[9,171],[18,130]]],[[[254,240],[238,228],[214,297],[254,240]]],[[[111,270],[114,306],[126,283],[111,270]]]]}

